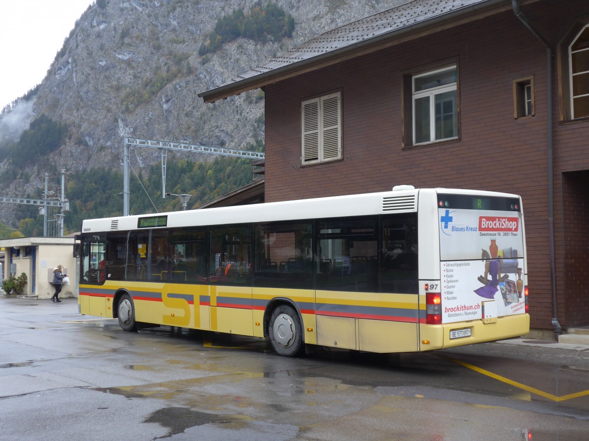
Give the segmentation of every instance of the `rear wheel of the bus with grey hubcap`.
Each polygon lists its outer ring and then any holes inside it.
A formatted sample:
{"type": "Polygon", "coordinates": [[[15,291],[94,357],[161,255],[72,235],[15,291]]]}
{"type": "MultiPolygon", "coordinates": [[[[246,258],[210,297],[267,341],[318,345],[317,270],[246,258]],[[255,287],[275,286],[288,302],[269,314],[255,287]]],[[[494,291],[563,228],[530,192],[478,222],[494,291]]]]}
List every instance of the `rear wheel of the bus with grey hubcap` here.
{"type": "Polygon", "coordinates": [[[299,315],[288,305],[280,305],[270,316],[270,344],[278,355],[294,357],[302,353],[303,326],[299,315]]]}

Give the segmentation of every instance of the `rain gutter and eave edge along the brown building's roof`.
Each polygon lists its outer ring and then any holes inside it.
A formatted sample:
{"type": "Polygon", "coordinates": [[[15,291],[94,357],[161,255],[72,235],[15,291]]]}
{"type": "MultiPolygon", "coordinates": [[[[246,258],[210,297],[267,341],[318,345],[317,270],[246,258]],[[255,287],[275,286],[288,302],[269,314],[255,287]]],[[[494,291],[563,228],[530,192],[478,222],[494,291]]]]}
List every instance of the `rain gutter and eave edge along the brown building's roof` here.
{"type": "MultiPolygon", "coordinates": [[[[359,51],[364,48],[369,48],[370,46],[378,45],[383,41],[411,34],[412,32],[421,31],[422,29],[426,29],[438,25],[440,23],[462,18],[463,16],[472,14],[474,12],[479,12],[484,9],[491,9],[494,6],[502,5],[505,5],[505,0],[488,0],[475,5],[465,6],[464,8],[459,8],[456,11],[448,12],[444,15],[437,15],[434,18],[423,20],[415,25],[406,25],[403,26],[403,28],[396,31],[389,31],[385,34],[381,34],[372,38],[359,41],[352,45],[344,46],[343,48],[326,52],[325,54],[313,56],[312,58],[307,58],[303,61],[297,61],[292,64],[282,66],[280,68],[272,69],[267,72],[262,72],[250,78],[244,78],[240,81],[235,81],[228,83],[226,85],[221,85],[217,88],[210,89],[209,91],[198,93],[198,97],[203,98],[204,102],[215,102],[219,99],[229,98],[229,96],[232,95],[239,95],[239,93],[241,92],[250,91],[252,89],[257,89],[261,86],[280,81],[281,79],[283,79],[283,77],[287,78],[289,76],[293,76],[295,72],[302,71],[307,66],[320,64],[326,61],[333,61],[333,63],[335,63],[339,61],[338,59],[340,56],[349,54],[351,52],[359,51]]],[[[434,29],[434,31],[437,30],[438,29],[434,29]]]]}

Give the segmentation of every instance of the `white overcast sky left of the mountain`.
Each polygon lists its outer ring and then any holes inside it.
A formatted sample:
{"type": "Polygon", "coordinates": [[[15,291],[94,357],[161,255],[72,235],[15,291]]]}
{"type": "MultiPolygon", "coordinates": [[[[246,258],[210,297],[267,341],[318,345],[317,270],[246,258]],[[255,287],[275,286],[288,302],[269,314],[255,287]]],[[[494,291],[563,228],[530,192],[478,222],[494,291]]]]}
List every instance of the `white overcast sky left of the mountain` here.
{"type": "Polygon", "coordinates": [[[45,78],[94,0],[0,0],[0,110],[45,78]]]}

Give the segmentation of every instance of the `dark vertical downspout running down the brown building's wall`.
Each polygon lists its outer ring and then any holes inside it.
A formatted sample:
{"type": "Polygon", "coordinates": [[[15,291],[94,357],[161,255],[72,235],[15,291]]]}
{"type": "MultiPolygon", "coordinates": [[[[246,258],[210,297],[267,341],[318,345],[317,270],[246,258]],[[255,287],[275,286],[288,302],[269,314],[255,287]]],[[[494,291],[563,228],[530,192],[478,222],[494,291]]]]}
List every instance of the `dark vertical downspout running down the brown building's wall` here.
{"type": "Polygon", "coordinates": [[[540,32],[532,26],[527,17],[519,10],[519,0],[511,0],[515,16],[524,24],[524,26],[538,38],[546,47],[547,70],[546,70],[546,90],[547,90],[547,112],[548,112],[548,242],[550,242],[550,278],[552,282],[552,326],[557,337],[561,335],[562,328],[558,323],[558,304],[556,296],[556,258],[554,252],[554,145],[552,135],[552,49],[550,43],[540,35],[540,32]]]}

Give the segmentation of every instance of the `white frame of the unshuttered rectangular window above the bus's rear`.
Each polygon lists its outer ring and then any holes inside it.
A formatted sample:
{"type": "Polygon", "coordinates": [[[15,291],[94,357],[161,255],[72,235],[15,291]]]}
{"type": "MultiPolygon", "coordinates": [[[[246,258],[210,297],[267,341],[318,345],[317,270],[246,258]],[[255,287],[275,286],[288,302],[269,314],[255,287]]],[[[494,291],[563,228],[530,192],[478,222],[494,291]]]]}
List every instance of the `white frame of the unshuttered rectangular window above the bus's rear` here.
{"type": "MultiPolygon", "coordinates": [[[[425,91],[418,91],[415,92],[415,80],[418,78],[421,78],[422,76],[426,76],[426,75],[432,75],[432,74],[436,74],[438,72],[444,72],[444,71],[451,71],[452,69],[456,70],[458,69],[458,66],[453,65],[453,66],[447,66],[445,68],[442,69],[436,69],[435,71],[428,71],[428,72],[423,72],[423,74],[419,74],[419,75],[413,75],[411,78],[411,92],[412,92],[412,110],[411,110],[411,115],[412,115],[412,124],[413,124],[413,145],[422,145],[422,144],[429,144],[432,142],[440,142],[440,141],[446,141],[448,139],[458,139],[458,82],[455,81],[454,83],[450,83],[448,85],[444,85],[444,86],[439,86],[439,87],[435,87],[435,88],[430,88],[430,89],[426,89],[425,91]],[[454,108],[453,108],[453,118],[456,121],[456,136],[451,136],[449,138],[439,138],[436,139],[436,114],[435,114],[435,97],[436,95],[439,95],[441,93],[446,93],[446,92],[456,92],[456,100],[454,102],[454,108]],[[429,141],[422,141],[422,142],[416,142],[417,139],[417,133],[416,133],[416,115],[415,115],[415,101],[421,98],[425,98],[428,97],[429,98],[429,141]]],[[[458,74],[458,72],[456,72],[456,74],[458,74]]]]}

